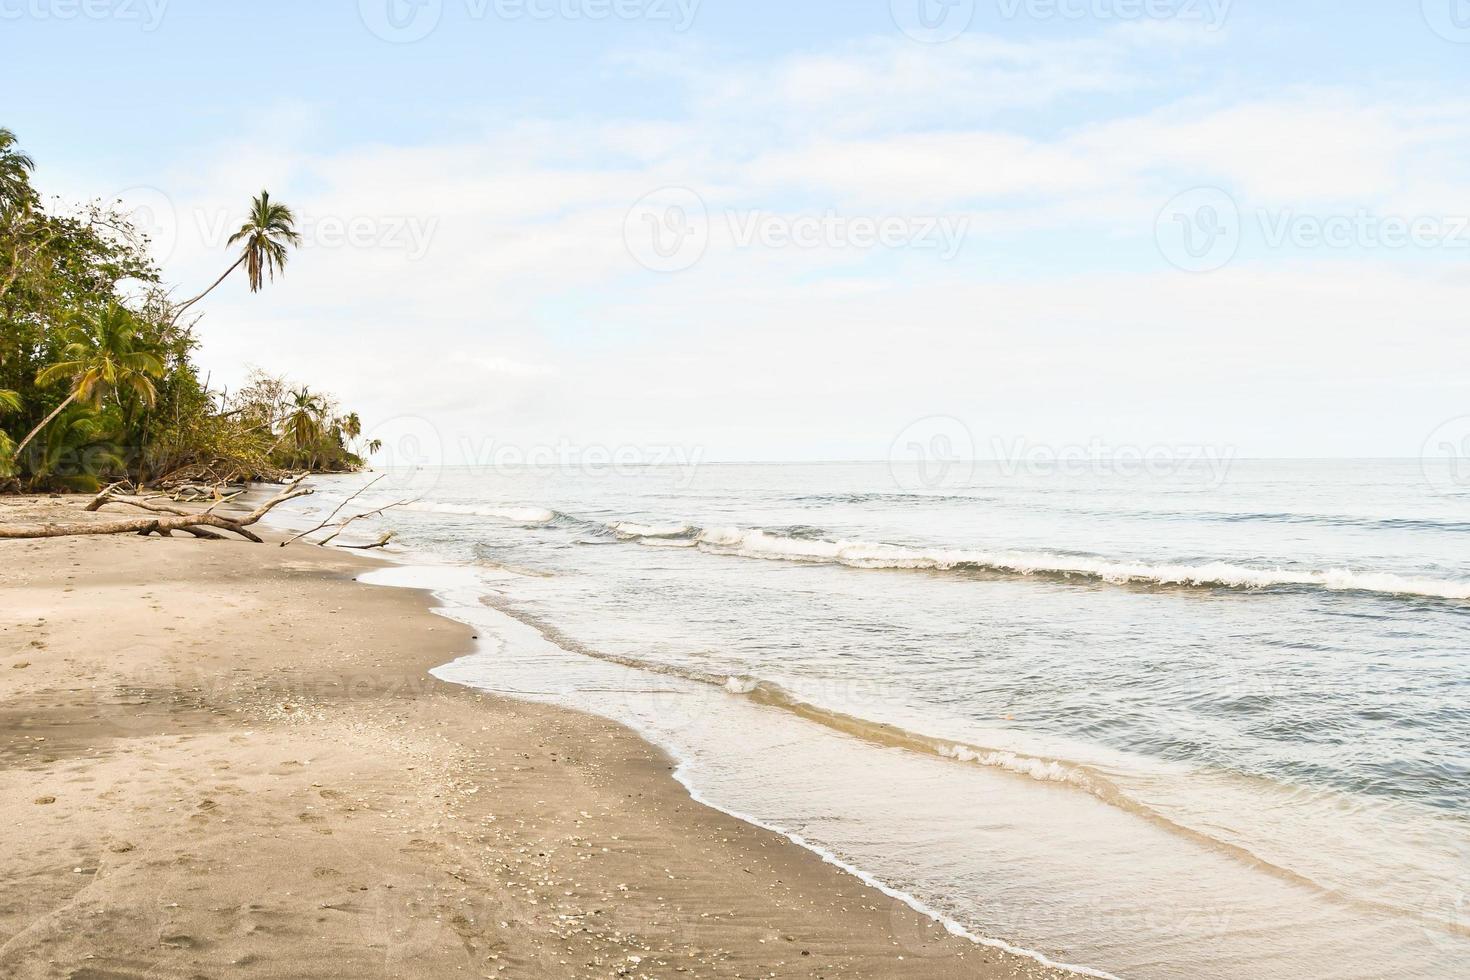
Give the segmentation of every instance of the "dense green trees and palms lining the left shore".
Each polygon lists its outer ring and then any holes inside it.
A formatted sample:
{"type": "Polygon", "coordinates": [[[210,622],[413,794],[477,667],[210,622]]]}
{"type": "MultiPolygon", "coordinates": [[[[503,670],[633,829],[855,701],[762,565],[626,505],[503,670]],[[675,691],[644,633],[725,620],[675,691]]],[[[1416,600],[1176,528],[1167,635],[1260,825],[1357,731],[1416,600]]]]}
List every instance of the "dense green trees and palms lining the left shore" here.
{"type": "Polygon", "coordinates": [[[148,241],[115,204],[62,213],[0,128],[0,488],[91,491],[281,479],[363,466],[362,423],[331,397],[254,372],[212,389],[194,363],[197,304],[237,270],[257,292],[300,244],[262,192],[231,266],[175,301],[148,241]]]}

